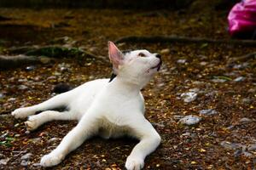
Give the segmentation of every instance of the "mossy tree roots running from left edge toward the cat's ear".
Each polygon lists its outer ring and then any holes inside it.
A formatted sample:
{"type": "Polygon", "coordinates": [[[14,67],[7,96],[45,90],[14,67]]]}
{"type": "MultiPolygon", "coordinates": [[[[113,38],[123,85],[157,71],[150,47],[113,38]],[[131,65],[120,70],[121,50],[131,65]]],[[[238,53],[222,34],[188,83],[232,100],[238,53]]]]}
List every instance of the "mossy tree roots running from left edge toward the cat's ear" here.
{"type": "Polygon", "coordinates": [[[9,69],[21,65],[34,65],[40,63],[49,63],[55,59],[64,57],[75,58],[78,60],[94,60],[100,59],[103,63],[108,62],[108,58],[90,54],[79,48],[65,48],[61,46],[24,46],[19,48],[9,48],[11,54],[20,54],[15,56],[0,55],[0,70],[9,69]]]}

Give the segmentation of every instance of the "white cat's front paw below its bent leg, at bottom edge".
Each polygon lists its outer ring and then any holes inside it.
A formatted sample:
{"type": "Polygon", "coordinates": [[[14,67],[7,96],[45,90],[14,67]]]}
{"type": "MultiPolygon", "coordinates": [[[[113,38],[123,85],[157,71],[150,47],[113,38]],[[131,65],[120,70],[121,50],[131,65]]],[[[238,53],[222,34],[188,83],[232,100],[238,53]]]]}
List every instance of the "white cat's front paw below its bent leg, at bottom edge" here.
{"type": "Polygon", "coordinates": [[[140,170],[144,167],[144,160],[140,157],[128,156],[125,167],[127,170],[140,170]]]}

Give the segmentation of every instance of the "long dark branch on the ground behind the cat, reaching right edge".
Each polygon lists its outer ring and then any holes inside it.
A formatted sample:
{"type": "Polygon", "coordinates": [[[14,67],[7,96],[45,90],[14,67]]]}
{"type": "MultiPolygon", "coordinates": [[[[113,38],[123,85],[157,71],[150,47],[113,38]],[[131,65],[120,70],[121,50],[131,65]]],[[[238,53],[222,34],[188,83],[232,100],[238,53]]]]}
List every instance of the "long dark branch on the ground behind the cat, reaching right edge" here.
{"type": "Polygon", "coordinates": [[[147,43],[166,43],[166,42],[182,42],[182,43],[226,43],[232,45],[242,45],[248,47],[256,47],[256,41],[253,40],[218,40],[201,37],[177,37],[177,36],[153,36],[153,37],[121,37],[115,42],[147,42],[147,43]]]}

